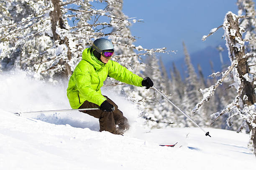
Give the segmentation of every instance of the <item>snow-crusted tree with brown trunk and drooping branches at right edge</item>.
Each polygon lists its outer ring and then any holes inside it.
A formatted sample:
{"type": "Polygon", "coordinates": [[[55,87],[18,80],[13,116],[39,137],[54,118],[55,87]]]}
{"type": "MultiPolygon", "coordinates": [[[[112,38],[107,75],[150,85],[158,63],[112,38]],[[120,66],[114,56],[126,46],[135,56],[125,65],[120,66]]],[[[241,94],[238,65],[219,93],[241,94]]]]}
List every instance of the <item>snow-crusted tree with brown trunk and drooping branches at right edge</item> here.
{"type": "MultiPolygon", "coordinates": [[[[193,112],[200,110],[202,105],[210,100],[210,96],[214,95],[216,88],[222,84],[226,77],[230,76],[230,78],[233,79],[233,84],[230,86],[236,90],[236,97],[233,99],[233,102],[226,105],[222,111],[212,114],[212,120],[215,121],[218,117],[228,112],[229,117],[227,123],[231,126],[234,117],[241,118],[243,122],[237,132],[240,132],[244,127],[249,127],[249,148],[253,150],[256,155],[256,97],[253,85],[256,80],[256,75],[250,73],[250,66],[248,64],[248,59],[255,57],[256,54],[245,53],[245,40],[242,37],[244,28],[242,28],[238,22],[239,19],[248,17],[250,16],[238,16],[231,12],[226,14],[224,23],[220,27],[223,27],[225,31],[225,41],[231,65],[228,67],[228,70],[219,74],[222,75],[222,77],[215,85],[200,90],[203,94],[203,99],[196,105],[193,112]]],[[[218,30],[218,28],[211,30],[209,35],[216,30],[218,30]]],[[[202,39],[205,40],[207,36],[203,36],[202,39]]]]}

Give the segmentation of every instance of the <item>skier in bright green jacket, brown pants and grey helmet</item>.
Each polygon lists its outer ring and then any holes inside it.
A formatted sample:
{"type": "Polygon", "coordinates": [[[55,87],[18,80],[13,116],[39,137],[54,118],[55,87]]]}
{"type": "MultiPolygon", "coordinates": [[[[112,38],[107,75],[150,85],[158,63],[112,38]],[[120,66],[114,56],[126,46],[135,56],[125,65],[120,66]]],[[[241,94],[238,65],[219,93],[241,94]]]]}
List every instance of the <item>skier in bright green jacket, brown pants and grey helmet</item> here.
{"type": "Polygon", "coordinates": [[[67,88],[67,97],[72,109],[99,108],[99,110],[81,111],[96,117],[100,122],[100,132],[108,131],[122,135],[129,129],[129,123],[123,112],[107,96],[101,94],[100,87],[107,77],[135,86],[154,84],[149,77],[139,77],[118,62],[110,60],[114,47],[110,40],[99,38],[82,53],[82,60],[74,69],[67,88]]]}

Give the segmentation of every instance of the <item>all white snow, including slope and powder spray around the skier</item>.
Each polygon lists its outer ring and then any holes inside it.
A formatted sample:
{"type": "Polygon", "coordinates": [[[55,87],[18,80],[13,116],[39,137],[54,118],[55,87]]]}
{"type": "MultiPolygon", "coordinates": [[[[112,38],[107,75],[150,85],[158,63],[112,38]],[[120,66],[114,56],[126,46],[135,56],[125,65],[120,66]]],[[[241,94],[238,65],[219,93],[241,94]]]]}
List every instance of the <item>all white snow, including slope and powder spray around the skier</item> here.
{"type": "MultiPolygon", "coordinates": [[[[121,135],[98,132],[98,120],[81,112],[12,114],[69,109],[67,85],[34,80],[24,72],[0,73],[0,169],[26,170],[240,170],[253,169],[248,134],[205,128],[149,130],[140,110],[125,97],[103,88],[128,117],[121,135]],[[159,144],[174,144],[174,148],[159,144]],[[182,145],[181,148],[179,146],[182,145]]],[[[172,107],[170,105],[170,107],[172,107]]]]}

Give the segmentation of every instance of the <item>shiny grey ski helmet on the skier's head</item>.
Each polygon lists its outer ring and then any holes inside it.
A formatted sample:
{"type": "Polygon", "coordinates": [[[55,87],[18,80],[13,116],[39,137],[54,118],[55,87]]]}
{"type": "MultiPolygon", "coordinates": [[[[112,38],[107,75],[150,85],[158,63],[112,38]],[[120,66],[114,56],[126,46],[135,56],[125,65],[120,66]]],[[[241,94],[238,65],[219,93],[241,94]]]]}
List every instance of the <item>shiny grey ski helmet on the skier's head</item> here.
{"type": "Polygon", "coordinates": [[[92,44],[92,47],[100,54],[102,53],[103,50],[113,50],[114,49],[112,42],[105,38],[99,38],[99,39],[95,40],[92,44]]]}

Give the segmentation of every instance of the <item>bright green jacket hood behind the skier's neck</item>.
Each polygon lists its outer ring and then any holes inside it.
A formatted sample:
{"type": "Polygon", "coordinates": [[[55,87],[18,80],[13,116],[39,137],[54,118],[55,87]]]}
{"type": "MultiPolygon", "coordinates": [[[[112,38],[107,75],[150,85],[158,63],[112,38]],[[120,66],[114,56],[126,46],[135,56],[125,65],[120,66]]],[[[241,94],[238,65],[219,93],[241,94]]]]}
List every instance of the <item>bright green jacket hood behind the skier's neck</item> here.
{"type": "Polygon", "coordinates": [[[105,64],[98,60],[93,53],[91,53],[91,48],[92,47],[86,48],[83,51],[82,60],[89,62],[95,68],[95,70],[99,71],[102,69],[102,67],[105,67],[105,64]]]}

